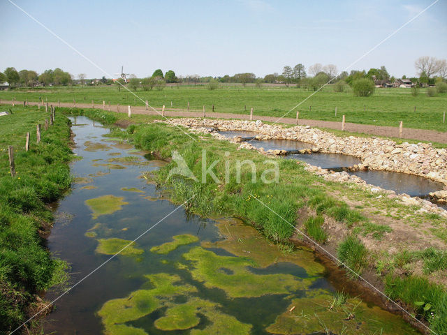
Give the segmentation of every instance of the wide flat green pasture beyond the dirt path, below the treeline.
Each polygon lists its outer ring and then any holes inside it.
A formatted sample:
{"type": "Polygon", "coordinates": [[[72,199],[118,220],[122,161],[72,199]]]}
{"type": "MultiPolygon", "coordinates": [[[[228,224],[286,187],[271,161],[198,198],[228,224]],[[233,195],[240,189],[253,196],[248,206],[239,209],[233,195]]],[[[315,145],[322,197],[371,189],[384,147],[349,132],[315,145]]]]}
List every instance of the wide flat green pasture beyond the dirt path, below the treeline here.
{"type": "MultiPolygon", "coordinates": [[[[189,102],[191,110],[202,110],[205,105],[206,110],[211,111],[214,105],[215,112],[249,114],[250,108],[254,107],[255,115],[281,117],[312,93],[314,92],[296,87],[258,88],[236,84],[222,84],[214,90],[207,89],[204,85],[174,85],[161,91],[138,89],[132,92],[126,89],[119,91],[116,85],[103,85],[14,89],[0,91],[0,99],[4,101],[15,98],[17,101],[24,101],[28,98],[29,101],[39,101],[41,98],[43,101],[59,100],[65,103],[72,103],[73,100],[76,103],[94,101],[96,107],[102,105],[103,101],[110,101],[112,105],[119,103],[143,106],[147,100],[149,105],[157,109],[161,109],[162,105],[170,108],[172,101],[173,108],[181,110],[186,110],[189,102]]],[[[342,115],[345,114],[346,122],[356,124],[397,127],[403,121],[404,128],[447,131],[447,120],[443,124],[443,113],[447,113],[447,94],[428,97],[425,89],[420,89],[417,96],[411,95],[411,89],[376,89],[373,96],[358,97],[353,96],[349,87],[342,93],[336,93],[328,86],[308,98],[293,112],[286,114],[286,117],[295,117],[297,110],[300,111],[300,119],[342,121],[342,115]]]]}

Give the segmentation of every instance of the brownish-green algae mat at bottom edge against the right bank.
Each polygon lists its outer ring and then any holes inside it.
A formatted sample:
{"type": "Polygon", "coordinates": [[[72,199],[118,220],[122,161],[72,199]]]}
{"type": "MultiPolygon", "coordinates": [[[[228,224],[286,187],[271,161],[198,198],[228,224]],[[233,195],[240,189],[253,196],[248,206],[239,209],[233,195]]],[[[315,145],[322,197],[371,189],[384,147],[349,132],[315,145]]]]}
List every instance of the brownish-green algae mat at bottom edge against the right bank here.
{"type": "Polygon", "coordinates": [[[332,306],[333,299],[325,290],[307,292],[306,297],[293,299],[266,330],[272,334],[419,334],[399,315],[378,306],[367,306],[356,298],[332,306]]]}

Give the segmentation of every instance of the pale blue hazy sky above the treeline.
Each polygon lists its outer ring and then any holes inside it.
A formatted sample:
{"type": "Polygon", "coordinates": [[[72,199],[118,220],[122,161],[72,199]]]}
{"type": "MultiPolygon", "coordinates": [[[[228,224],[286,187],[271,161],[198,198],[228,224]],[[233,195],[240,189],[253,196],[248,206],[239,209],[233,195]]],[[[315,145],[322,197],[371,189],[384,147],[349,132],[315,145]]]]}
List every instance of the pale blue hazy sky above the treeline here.
{"type": "Polygon", "coordinates": [[[447,58],[447,0],[363,56],[433,2],[0,0],[0,71],[59,67],[75,77],[116,77],[124,66],[138,77],[157,68],[263,77],[321,63],[348,72],[383,65],[390,75],[412,77],[418,57],[447,58]]]}

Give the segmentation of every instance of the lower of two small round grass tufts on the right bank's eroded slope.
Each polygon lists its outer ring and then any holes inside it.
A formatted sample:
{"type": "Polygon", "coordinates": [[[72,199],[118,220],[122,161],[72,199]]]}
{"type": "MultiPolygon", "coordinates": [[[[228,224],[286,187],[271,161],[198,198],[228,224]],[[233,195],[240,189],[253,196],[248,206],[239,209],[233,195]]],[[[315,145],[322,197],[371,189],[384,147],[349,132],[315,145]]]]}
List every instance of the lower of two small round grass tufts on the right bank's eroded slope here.
{"type": "MultiPolygon", "coordinates": [[[[361,274],[367,265],[367,250],[362,242],[352,235],[346,237],[337,249],[337,255],[341,262],[357,274],[361,274]]],[[[353,274],[351,274],[354,276],[353,274]]]]}

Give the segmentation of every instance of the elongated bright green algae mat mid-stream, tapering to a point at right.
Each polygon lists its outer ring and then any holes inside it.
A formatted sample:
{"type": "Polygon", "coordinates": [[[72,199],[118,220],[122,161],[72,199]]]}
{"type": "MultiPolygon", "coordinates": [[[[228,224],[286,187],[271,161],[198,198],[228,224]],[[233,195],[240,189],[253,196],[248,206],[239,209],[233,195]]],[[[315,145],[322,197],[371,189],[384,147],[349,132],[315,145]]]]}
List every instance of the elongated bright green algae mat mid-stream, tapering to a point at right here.
{"type": "Polygon", "coordinates": [[[220,288],[229,297],[261,297],[304,290],[314,281],[291,274],[254,274],[247,267],[257,267],[253,260],[219,256],[204,248],[191,248],[183,257],[191,260],[191,275],[207,288],[220,288]]]}

